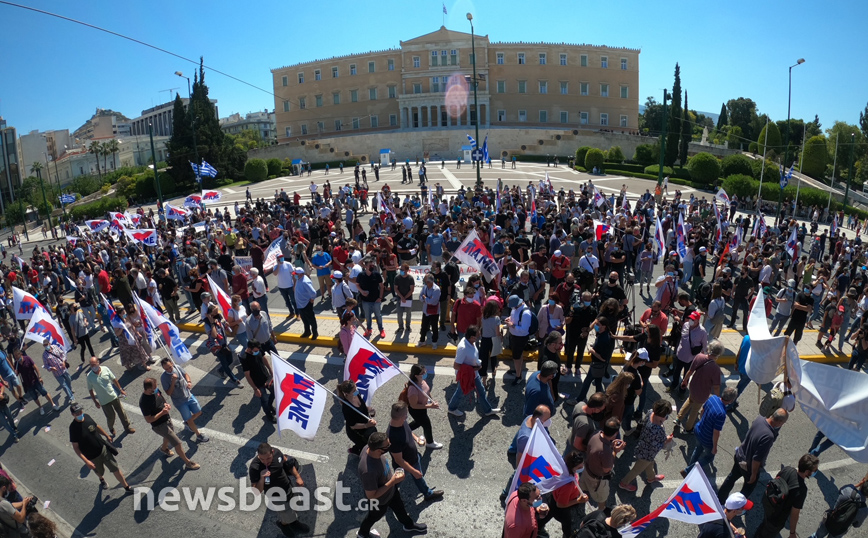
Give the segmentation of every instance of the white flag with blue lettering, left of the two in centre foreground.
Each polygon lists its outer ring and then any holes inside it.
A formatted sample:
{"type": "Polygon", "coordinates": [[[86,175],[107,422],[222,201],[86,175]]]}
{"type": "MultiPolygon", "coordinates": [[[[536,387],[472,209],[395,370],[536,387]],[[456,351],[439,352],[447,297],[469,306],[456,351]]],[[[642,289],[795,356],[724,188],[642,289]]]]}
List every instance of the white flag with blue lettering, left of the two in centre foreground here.
{"type": "Polygon", "coordinates": [[[328,392],[274,353],[271,353],[271,371],[277,404],[277,435],[290,430],[302,439],[313,440],[328,403],[328,392]]]}

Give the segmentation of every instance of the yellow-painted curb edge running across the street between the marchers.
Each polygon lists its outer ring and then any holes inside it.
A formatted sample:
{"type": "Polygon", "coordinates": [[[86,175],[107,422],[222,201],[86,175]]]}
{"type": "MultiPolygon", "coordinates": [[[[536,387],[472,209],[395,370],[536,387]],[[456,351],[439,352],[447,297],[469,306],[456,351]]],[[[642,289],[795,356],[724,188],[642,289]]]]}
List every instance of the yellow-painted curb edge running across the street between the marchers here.
{"type": "MultiPolygon", "coordinates": [[[[194,325],[192,323],[178,323],[178,329],[188,333],[205,334],[203,325],[194,325]]],[[[285,344],[298,344],[300,346],[315,346],[336,349],[338,339],[334,337],[319,336],[315,340],[311,338],[302,338],[300,334],[278,333],[277,341],[285,344]]],[[[434,355],[443,358],[455,357],[455,346],[447,344],[441,349],[431,349],[430,346],[419,347],[416,344],[401,344],[394,342],[373,341],[374,346],[385,354],[400,353],[404,355],[434,355]]],[[[522,357],[524,360],[537,360],[539,353],[536,351],[526,351],[522,357]]],[[[590,354],[585,353],[585,359],[590,360],[590,354]]],[[[799,358],[819,362],[823,364],[846,364],[850,358],[847,355],[800,355],[799,358]]],[[[504,360],[504,357],[501,357],[504,360]]],[[[584,362],[584,361],[583,361],[584,362]]],[[[726,354],[720,357],[717,361],[722,366],[735,366],[735,354],[726,354]]],[[[615,353],[612,355],[611,364],[624,364],[624,354],[615,353]]]]}

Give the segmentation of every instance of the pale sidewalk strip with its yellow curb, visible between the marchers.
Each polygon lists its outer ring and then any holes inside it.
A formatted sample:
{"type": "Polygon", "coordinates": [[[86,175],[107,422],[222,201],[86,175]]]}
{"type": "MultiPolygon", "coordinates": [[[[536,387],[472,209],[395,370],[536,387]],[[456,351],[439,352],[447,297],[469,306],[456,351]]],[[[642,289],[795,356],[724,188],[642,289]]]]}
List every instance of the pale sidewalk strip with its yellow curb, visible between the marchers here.
{"type": "MultiPolygon", "coordinates": [[[[279,301],[280,295],[273,295],[273,297],[269,297],[269,313],[274,325],[274,334],[277,336],[278,342],[332,349],[337,347],[337,334],[340,331],[340,321],[337,315],[331,312],[329,306],[330,302],[328,300],[325,302],[317,300],[314,305],[314,308],[317,311],[316,319],[319,337],[316,340],[312,340],[310,338],[301,337],[304,327],[301,320],[296,320],[295,318],[288,319],[288,311],[286,308],[282,308],[283,305],[278,307],[276,304],[277,301],[273,300],[276,298],[279,301]]],[[[416,301],[414,301],[414,305],[415,303],[416,301]]],[[[182,308],[182,312],[183,311],[184,308],[182,308]]],[[[396,331],[398,330],[396,311],[397,307],[395,303],[392,303],[391,301],[383,303],[383,328],[386,331],[386,338],[383,339],[379,337],[376,319],[372,317],[371,321],[374,334],[370,340],[380,351],[386,355],[390,353],[399,353],[416,356],[433,355],[447,358],[455,356],[455,345],[450,343],[446,338],[446,331],[440,331],[440,339],[438,341],[437,349],[432,349],[430,345],[426,347],[419,347],[417,345],[417,342],[419,341],[419,331],[422,327],[420,312],[413,313],[413,319],[411,321],[412,329],[409,334],[406,330],[400,335],[396,334],[396,331]]],[[[181,331],[190,333],[205,332],[204,326],[198,322],[198,314],[195,316],[185,315],[184,319],[186,320],[185,322],[178,323],[178,329],[181,331]]],[[[361,328],[364,329],[365,326],[364,319],[362,319],[361,328]]],[[[721,365],[735,365],[735,356],[738,352],[739,346],[741,345],[744,334],[745,333],[742,333],[741,331],[732,329],[723,330],[720,335],[720,341],[723,342],[724,346],[726,346],[726,353],[721,360],[718,361],[721,365]]],[[[834,350],[832,352],[823,352],[816,346],[816,338],[817,331],[804,331],[802,340],[796,345],[796,349],[798,349],[799,356],[802,359],[828,364],[846,364],[849,362],[849,353],[852,350],[849,343],[844,344],[845,353],[837,352],[837,339],[835,340],[835,344],[833,344],[834,350]]],[[[501,359],[508,355],[509,351],[504,350],[504,353],[501,354],[501,359]]],[[[537,355],[538,353],[536,351],[528,351],[524,353],[525,359],[529,360],[536,360],[537,355]]],[[[587,353],[587,351],[585,353],[584,362],[586,364],[590,362],[590,354],[587,353]]],[[[624,354],[620,353],[619,349],[616,348],[615,354],[612,355],[612,363],[623,364],[623,362],[624,354]]]]}

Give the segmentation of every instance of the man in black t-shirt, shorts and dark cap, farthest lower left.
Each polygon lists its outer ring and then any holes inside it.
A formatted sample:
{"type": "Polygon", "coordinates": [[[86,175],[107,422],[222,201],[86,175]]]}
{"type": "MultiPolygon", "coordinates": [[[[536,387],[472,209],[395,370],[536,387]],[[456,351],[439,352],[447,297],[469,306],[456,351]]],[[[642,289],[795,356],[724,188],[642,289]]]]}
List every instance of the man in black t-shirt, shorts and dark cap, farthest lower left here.
{"type": "Polygon", "coordinates": [[[69,442],[72,443],[72,449],[75,450],[81,461],[87,465],[88,469],[96,473],[99,477],[99,484],[103,488],[108,488],[108,484],[103,478],[105,470],[108,468],[127,493],[132,493],[133,489],[127,484],[127,479],[124,478],[124,473],[121,472],[118,462],[115,460],[114,455],[117,454],[117,449],[114,447],[112,447],[112,451],[108,449],[112,437],[94,422],[90,415],[84,414],[84,409],[80,403],[70,404],[69,410],[75,418],[69,425],[69,442]]]}

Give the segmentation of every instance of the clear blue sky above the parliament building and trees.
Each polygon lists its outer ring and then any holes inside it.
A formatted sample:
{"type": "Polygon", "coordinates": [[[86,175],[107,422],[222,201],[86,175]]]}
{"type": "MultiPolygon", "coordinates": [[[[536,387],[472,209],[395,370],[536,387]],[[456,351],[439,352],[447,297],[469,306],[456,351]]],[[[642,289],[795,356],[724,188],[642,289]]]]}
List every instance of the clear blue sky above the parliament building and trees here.
{"type": "MultiPolygon", "coordinates": [[[[270,69],[334,55],[397,47],[437,30],[441,0],[296,2],[19,0],[147,41],[271,89],[270,69]],[[242,7],[243,6],[243,7],[242,7]]],[[[749,97],[773,119],[787,115],[787,68],[793,69],[792,116],[823,128],[856,123],[868,101],[862,0],[457,0],[445,2],[446,26],[492,41],[591,43],[641,48],[640,104],[672,87],[681,64],[690,108],[717,113],[749,97]]],[[[194,66],[164,53],[42,14],[0,5],[0,115],[20,133],[73,130],[97,107],[129,117],[168,100],[194,66]]],[[[221,116],[274,108],[273,98],[206,72],[221,116]]]]}

